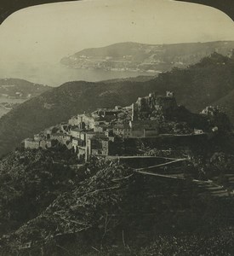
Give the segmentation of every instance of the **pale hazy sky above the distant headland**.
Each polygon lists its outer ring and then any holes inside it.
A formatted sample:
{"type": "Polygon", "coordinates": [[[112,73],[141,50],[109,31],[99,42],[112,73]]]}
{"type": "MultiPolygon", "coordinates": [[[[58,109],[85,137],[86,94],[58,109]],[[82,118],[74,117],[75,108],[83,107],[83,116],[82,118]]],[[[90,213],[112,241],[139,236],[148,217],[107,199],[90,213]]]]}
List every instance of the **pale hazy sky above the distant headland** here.
{"type": "Polygon", "coordinates": [[[117,42],[171,44],[234,40],[220,10],[169,0],[94,0],[22,9],[0,26],[1,61],[60,61],[117,42]]]}

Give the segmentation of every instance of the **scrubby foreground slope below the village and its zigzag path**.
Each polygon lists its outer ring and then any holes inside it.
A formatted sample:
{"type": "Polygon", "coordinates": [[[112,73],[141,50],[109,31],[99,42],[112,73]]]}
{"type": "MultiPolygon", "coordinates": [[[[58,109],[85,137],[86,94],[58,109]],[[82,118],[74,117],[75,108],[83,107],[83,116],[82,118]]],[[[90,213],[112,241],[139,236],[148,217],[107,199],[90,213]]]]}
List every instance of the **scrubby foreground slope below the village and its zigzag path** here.
{"type": "Polygon", "coordinates": [[[18,149],[0,161],[1,255],[231,255],[233,197],[115,161],[71,164],[62,148],[18,149]]]}

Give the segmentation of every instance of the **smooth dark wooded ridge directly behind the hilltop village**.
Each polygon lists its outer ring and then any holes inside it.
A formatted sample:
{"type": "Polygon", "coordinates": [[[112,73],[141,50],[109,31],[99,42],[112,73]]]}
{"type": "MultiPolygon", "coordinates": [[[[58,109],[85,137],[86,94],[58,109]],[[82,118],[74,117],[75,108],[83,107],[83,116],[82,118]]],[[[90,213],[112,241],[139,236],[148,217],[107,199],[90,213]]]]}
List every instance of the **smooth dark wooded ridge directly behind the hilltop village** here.
{"type": "MultiPolygon", "coordinates": [[[[196,65],[186,69],[175,68],[151,80],[62,84],[20,104],[0,119],[0,154],[9,152],[24,138],[32,137],[50,125],[67,121],[72,115],[96,108],[128,106],[139,96],[146,96],[152,91],[164,95],[166,90],[173,90],[179,104],[193,112],[201,111],[234,90],[233,70],[232,59],[214,54],[196,65]]],[[[224,104],[225,98],[221,105],[224,104]]]]}

